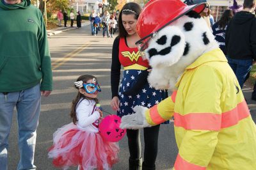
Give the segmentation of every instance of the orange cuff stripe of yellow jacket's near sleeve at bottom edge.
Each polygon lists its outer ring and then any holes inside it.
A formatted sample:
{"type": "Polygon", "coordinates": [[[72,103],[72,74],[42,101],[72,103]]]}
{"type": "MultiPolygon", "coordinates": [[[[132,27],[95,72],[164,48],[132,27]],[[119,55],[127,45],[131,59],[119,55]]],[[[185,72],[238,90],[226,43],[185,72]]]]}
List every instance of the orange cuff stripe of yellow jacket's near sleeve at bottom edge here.
{"type": "Polygon", "coordinates": [[[184,160],[180,155],[177,155],[175,164],[174,164],[175,170],[205,170],[206,167],[202,166],[196,166],[195,164],[191,164],[184,160]]]}

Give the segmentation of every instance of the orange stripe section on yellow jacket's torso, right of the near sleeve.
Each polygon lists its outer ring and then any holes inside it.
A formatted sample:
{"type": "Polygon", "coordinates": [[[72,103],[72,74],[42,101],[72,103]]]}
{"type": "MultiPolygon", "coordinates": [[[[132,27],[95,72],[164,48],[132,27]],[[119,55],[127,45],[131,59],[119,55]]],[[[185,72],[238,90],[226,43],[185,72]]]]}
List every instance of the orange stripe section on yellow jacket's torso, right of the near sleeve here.
{"type": "Polygon", "coordinates": [[[248,116],[250,116],[250,111],[244,100],[240,104],[237,104],[237,107],[231,111],[222,113],[221,128],[232,127],[248,116]]]}

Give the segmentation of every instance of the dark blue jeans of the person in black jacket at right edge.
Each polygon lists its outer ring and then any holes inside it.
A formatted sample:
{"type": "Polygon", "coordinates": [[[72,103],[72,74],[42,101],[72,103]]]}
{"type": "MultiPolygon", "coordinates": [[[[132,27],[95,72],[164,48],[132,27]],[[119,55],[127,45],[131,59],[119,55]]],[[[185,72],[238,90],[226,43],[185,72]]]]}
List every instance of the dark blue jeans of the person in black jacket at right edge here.
{"type": "Polygon", "coordinates": [[[228,57],[227,59],[228,59],[228,64],[236,74],[237,80],[242,89],[244,81],[246,80],[246,75],[252,69],[253,59],[232,59],[228,57]]]}

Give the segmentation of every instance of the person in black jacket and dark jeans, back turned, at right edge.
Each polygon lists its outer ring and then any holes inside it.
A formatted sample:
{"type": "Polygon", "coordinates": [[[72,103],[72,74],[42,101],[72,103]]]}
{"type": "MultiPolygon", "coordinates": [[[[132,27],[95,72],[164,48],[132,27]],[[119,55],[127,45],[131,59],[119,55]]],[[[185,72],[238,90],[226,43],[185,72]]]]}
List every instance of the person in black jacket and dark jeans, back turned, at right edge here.
{"type": "Polygon", "coordinates": [[[236,74],[241,89],[253,59],[256,59],[255,3],[256,0],[244,0],[243,10],[230,20],[225,34],[228,64],[236,74]]]}

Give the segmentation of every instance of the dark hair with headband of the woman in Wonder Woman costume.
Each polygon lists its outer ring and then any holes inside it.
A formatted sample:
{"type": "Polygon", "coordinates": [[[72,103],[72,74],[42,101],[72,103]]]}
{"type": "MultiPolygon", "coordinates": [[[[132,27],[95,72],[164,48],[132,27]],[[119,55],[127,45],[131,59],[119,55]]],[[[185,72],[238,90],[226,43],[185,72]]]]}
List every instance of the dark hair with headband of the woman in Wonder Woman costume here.
{"type": "Polygon", "coordinates": [[[125,30],[122,22],[122,14],[125,15],[134,15],[134,19],[138,20],[138,17],[141,12],[141,7],[137,3],[127,3],[123,6],[119,17],[118,17],[118,27],[119,27],[119,36],[125,37],[128,35],[127,31],[125,30]]]}

